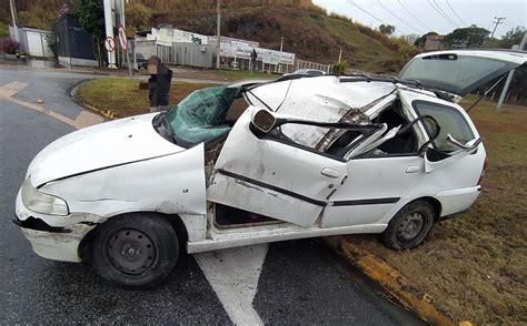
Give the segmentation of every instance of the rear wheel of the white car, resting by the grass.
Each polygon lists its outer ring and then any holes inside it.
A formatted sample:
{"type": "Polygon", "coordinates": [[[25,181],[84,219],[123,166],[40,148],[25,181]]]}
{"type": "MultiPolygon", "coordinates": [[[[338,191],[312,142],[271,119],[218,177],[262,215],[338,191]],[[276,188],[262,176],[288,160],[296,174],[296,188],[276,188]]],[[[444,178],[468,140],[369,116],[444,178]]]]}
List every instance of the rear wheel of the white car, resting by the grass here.
{"type": "Polygon", "coordinates": [[[421,245],[431,231],[435,212],[430,203],[415,201],[404,206],[381,234],[385,246],[401,251],[421,245]]]}

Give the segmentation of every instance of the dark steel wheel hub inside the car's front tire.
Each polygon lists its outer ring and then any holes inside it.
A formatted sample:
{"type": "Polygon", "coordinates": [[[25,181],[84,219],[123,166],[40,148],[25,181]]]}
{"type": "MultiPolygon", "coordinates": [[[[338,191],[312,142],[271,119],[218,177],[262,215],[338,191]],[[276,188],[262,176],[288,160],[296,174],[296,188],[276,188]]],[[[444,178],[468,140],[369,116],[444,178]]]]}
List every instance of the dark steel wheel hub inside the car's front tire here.
{"type": "Polygon", "coordinates": [[[107,242],[107,254],[113,267],[122,273],[137,275],[152,266],[157,249],[146,233],[122,228],[115,232],[107,242]]]}

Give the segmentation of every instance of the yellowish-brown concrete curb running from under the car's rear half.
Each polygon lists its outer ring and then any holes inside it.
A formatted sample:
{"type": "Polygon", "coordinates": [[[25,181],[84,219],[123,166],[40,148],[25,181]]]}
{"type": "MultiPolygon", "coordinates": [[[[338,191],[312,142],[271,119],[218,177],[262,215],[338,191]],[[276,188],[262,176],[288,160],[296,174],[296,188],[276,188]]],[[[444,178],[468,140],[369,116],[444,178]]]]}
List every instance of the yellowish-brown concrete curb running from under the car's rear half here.
{"type": "MultiPolygon", "coordinates": [[[[431,325],[456,325],[450,316],[441,313],[434,298],[412,285],[400,272],[386,264],[382,258],[359,248],[345,236],[325,237],[324,242],[346,258],[348,263],[360,268],[368,277],[379,283],[404,306],[416,312],[431,325]]],[[[460,322],[459,326],[471,326],[470,322],[460,322]]]]}

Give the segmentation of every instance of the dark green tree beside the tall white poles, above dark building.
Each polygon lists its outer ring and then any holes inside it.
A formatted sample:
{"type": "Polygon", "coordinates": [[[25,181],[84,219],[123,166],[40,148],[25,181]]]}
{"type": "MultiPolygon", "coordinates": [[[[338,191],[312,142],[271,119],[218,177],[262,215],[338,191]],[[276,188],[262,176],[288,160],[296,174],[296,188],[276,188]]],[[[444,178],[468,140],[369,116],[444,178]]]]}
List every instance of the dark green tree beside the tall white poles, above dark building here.
{"type": "Polygon", "coordinates": [[[79,19],[81,28],[93,39],[93,53],[103,63],[105,53],[102,41],[105,40],[105,7],[101,0],[79,0],[74,3],[72,13],[79,19]]]}

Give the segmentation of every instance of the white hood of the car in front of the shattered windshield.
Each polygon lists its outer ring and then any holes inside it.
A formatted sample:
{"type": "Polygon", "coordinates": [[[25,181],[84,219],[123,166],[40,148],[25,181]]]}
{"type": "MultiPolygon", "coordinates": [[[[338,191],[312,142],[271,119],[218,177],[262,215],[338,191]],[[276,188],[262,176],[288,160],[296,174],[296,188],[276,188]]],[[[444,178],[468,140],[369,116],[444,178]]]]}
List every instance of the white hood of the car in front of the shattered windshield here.
{"type": "Polygon", "coordinates": [[[181,152],[145,114],[86,128],[44,147],[28,167],[33,186],[71,175],[181,152]]]}

